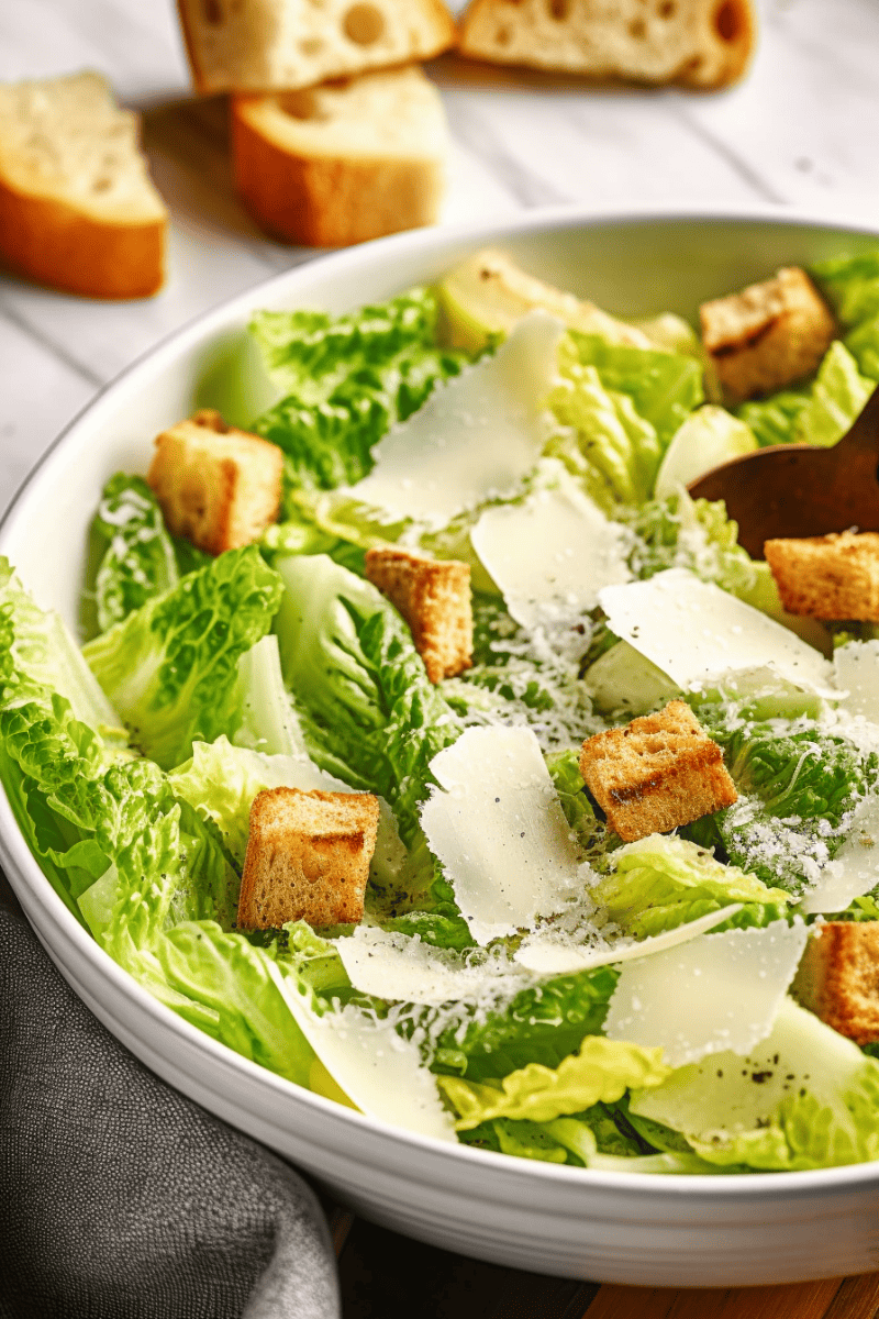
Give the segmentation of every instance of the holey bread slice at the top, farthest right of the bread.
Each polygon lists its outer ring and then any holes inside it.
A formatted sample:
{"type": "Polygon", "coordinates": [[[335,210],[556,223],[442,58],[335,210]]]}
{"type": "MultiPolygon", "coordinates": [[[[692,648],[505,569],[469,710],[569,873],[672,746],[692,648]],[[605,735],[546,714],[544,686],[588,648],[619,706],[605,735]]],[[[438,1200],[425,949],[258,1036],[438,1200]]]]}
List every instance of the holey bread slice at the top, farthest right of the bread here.
{"type": "Polygon", "coordinates": [[[750,0],[474,0],[461,54],[589,78],[725,87],[754,46],[750,0]]]}

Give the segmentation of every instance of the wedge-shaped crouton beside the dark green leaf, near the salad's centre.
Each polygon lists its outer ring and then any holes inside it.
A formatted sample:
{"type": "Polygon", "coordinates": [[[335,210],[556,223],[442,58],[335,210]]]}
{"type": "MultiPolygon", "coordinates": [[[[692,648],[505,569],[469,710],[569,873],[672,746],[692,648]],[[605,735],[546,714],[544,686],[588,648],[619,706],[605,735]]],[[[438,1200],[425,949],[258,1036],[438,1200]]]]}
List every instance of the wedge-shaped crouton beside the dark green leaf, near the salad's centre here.
{"type": "Polygon", "coordinates": [[[470,667],[473,607],[467,563],[376,549],[366,551],[366,576],[406,619],[431,682],[470,667]]]}

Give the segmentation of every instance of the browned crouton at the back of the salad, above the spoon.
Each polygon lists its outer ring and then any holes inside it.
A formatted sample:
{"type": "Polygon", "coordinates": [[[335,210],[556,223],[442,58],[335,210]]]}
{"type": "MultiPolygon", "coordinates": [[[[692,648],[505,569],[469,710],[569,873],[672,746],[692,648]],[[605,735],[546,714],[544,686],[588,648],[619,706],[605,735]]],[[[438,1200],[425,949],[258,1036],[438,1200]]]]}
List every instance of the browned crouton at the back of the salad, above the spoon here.
{"type": "Polygon", "coordinates": [[[797,266],[700,307],[702,342],[727,402],[784,389],[818,365],[836,321],[797,266]]]}

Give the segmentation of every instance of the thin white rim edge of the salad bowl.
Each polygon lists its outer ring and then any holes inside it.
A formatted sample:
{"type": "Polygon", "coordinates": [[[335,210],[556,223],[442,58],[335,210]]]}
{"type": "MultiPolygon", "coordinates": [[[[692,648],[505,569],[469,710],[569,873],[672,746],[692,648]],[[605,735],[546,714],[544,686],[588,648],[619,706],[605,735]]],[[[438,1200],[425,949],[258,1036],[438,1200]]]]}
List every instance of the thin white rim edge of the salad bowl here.
{"type": "MultiPolygon", "coordinates": [[[[879,222],[872,226],[857,215],[839,215],[830,208],[799,208],[778,203],[705,203],[680,202],[659,206],[656,203],[637,203],[623,206],[552,206],[536,207],[526,212],[511,215],[493,215],[478,222],[461,222],[457,224],[441,226],[430,230],[415,230],[406,233],[391,235],[377,239],[354,248],[345,248],[336,252],[308,257],[297,265],[268,276],[265,280],[250,285],[241,293],[233,294],[217,306],[203,311],[182,326],[163,335],[153,346],[140,353],[130,364],[113,376],[76,412],[71,421],[61,430],[55,439],[43,451],[40,459],[30,468],[24,480],[18,484],[7,508],[0,514],[0,554],[7,553],[7,541],[16,526],[21,505],[25,503],[32,487],[41,479],[43,471],[50,467],[59,450],[65,448],[76,438],[80,427],[88,427],[95,413],[100,413],[103,406],[113,396],[127,386],[136,386],[140,375],[149,375],[161,371],[166,361],[195,347],[199,343],[210,343],[224,327],[235,323],[241,313],[257,310],[264,290],[277,290],[290,286],[291,295],[295,297],[298,285],[304,285],[307,294],[310,276],[318,272],[315,278],[323,282],[329,273],[332,277],[344,278],[347,274],[360,268],[381,265],[386,259],[393,260],[395,253],[409,253],[419,251],[431,252],[455,245],[476,247],[489,239],[502,240],[527,233],[548,233],[560,230],[577,228],[619,228],[626,226],[654,223],[654,224],[764,224],[768,227],[791,227],[809,230],[828,230],[849,232],[853,236],[875,236],[879,243],[879,222]]],[[[14,566],[14,565],[13,565],[14,566]]],[[[430,1155],[424,1167],[434,1169],[436,1159],[445,1155],[455,1166],[460,1161],[472,1163],[474,1170],[490,1173],[493,1178],[510,1182],[526,1181],[531,1183],[535,1178],[547,1186],[584,1190],[608,1190],[631,1206],[634,1200],[643,1198],[684,1198],[708,1203],[731,1200],[762,1200],[766,1196],[776,1199],[783,1196],[787,1200],[800,1200],[813,1198],[816,1192],[833,1192],[855,1187],[879,1186],[879,1162],[839,1165],[826,1169],[807,1169],[799,1171],[752,1171],[752,1173],[723,1173],[717,1174],[675,1174],[662,1175],[655,1173],[627,1173],[609,1171],[588,1167],[573,1167],[569,1165],[555,1165],[543,1161],[517,1159],[510,1155],[498,1157],[494,1151],[481,1150],[460,1142],[445,1142],[435,1137],[423,1136],[405,1128],[394,1126],[381,1119],[370,1117],[358,1111],[345,1108],[333,1100],[316,1095],[270,1071],[261,1064],[252,1062],[237,1054],[229,1046],[199,1030],[183,1017],[178,1016],[158,998],[154,998],[132,975],[119,966],[109,954],[91,936],[91,934],[76,921],[72,911],[67,909],[62,898],[54,892],[49,878],[43,874],[36,857],[32,855],[24,835],[12,814],[5,790],[0,787],[0,863],[9,878],[16,896],[18,897],[28,919],[34,927],[41,942],[53,942],[43,938],[43,922],[63,942],[72,944],[72,950],[87,963],[91,963],[101,979],[119,996],[119,1001],[132,998],[141,1013],[153,1020],[162,1034],[171,1033],[177,1041],[194,1053],[192,1068],[198,1064],[199,1054],[206,1062],[217,1067],[240,1071],[249,1084],[257,1088],[274,1092],[278,1097],[298,1100],[306,1109],[312,1108],[327,1117],[331,1125],[368,1132],[378,1138],[376,1158],[380,1154],[380,1145],[390,1141],[394,1145],[407,1146],[412,1155],[430,1155]]],[[[54,950],[54,942],[53,942],[54,950]]],[[[53,958],[53,960],[55,960],[53,958]]],[[[108,1028],[109,1029],[109,1028],[108,1028]]],[[[233,1120],[232,1120],[233,1121],[233,1120]]],[[[361,1146],[358,1162],[366,1162],[365,1149],[361,1146]]],[[[419,1175],[420,1163],[412,1158],[407,1165],[410,1181],[423,1181],[434,1184],[435,1179],[426,1171],[419,1175]]],[[[621,1210],[621,1216],[627,1216],[629,1208],[621,1210]]]]}

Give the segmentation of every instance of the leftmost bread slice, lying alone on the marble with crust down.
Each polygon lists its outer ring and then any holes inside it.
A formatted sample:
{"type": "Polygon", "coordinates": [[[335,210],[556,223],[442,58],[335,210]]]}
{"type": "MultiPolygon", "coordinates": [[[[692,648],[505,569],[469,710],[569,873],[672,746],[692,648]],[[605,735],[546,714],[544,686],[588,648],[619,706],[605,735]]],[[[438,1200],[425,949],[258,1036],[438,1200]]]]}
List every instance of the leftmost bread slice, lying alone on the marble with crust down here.
{"type": "Polygon", "coordinates": [[[137,131],[95,73],[0,86],[0,260],[90,298],[156,293],[167,211],[137,131]]]}

